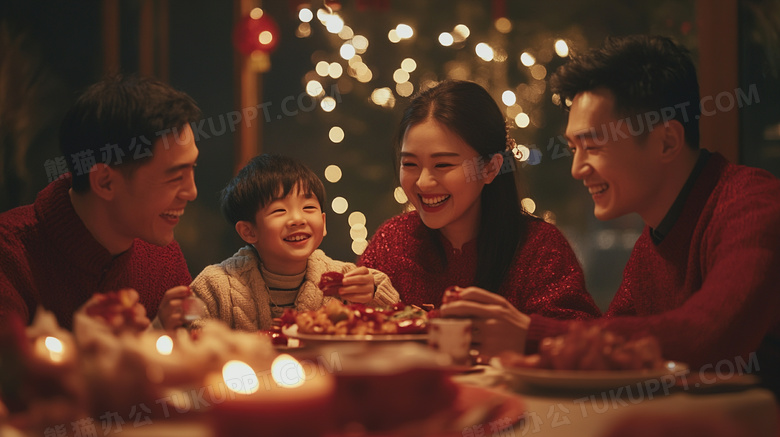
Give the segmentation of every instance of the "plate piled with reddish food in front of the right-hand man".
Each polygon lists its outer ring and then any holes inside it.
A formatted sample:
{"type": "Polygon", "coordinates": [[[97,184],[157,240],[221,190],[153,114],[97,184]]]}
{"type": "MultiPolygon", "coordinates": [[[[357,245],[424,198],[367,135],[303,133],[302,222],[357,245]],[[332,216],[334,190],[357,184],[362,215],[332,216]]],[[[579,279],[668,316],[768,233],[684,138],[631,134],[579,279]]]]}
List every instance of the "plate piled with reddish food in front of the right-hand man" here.
{"type": "Polygon", "coordinates": [[[529,386],[556,390],[607,390],[637,383],[646,384],[643,390],[651,385],[668,390],[677,376],[689,372],[685,363],[662,358],[655,337],[627,340],[581,323],[573,323],[564,335],[543,339],[537,354],[505,352],[491,365],[529,386]]]}

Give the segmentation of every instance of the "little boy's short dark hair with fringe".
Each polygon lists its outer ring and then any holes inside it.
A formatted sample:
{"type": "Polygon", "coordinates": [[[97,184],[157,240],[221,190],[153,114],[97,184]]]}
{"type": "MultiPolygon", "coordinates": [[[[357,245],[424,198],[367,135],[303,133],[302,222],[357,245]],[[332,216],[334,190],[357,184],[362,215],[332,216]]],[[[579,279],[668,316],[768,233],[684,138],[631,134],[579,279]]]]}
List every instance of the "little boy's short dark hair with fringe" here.
{"type": "Polygon", "coordinates": [[[314,194],[320,207],[325,204],[325,186],[309,167],[287,156],[256,156],[222,190],[222,214],[233,225],[242,220],[254,223],[257,211],[298,186],[303,193],[314,194]]]}

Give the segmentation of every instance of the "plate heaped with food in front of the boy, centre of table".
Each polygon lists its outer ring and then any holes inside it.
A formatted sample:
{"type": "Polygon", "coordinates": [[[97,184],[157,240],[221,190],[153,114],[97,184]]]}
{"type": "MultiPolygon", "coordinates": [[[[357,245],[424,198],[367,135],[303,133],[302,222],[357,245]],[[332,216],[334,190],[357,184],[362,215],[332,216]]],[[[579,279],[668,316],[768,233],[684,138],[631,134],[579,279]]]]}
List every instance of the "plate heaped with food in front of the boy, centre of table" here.
{"type": "Polygon", "coordinates": [[[330,300],[316,310],[287,310],[282,333],[308,342],[426,341],[425,310],[398,303],[386,308],[330,300]]]}

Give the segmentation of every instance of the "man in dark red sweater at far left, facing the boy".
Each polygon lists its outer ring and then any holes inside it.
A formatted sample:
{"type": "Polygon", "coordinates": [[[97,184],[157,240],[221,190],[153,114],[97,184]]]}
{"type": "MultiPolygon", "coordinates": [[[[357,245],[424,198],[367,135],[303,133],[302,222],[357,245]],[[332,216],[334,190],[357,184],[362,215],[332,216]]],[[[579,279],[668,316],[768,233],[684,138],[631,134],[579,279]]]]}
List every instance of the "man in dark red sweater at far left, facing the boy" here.
{"type": "Polygon", "coordinates": [[[149,78],[112,77],[77,99],[60,130],[70,173],[0,214],[0,323],[42,306],[70,328],[94,293],[133,288],[150,318],[181,324],[191,277],[173,228],[197,196],[199,118],[192,98],[149,78]]]}

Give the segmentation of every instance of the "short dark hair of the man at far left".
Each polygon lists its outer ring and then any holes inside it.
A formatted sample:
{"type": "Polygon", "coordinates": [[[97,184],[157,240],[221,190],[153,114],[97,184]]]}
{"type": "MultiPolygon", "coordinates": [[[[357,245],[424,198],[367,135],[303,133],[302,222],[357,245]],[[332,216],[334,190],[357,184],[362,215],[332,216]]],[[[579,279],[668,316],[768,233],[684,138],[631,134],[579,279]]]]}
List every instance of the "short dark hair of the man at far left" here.
{"type": "Polygon", "coordinates": [[[114,75],[90,86],[60,126],[60,150],[73,176],[73,190],[89,191],[92,163],[104,163],[130,177],[153,156],[161,136],[201,117],[187,94],[157,79],[114,75]]]}

